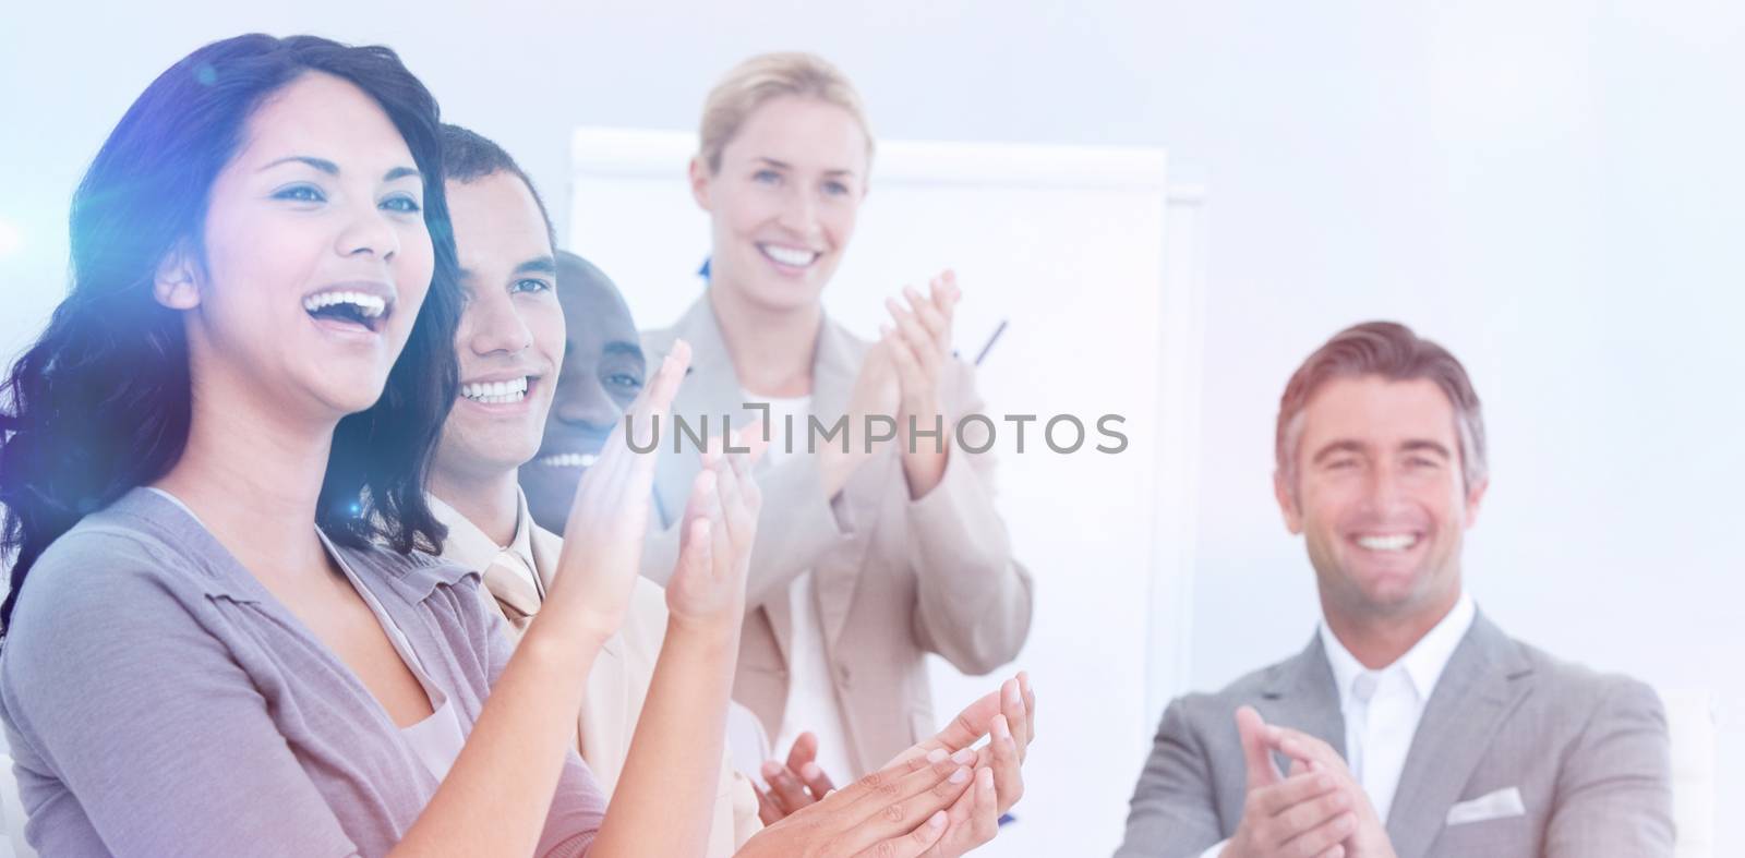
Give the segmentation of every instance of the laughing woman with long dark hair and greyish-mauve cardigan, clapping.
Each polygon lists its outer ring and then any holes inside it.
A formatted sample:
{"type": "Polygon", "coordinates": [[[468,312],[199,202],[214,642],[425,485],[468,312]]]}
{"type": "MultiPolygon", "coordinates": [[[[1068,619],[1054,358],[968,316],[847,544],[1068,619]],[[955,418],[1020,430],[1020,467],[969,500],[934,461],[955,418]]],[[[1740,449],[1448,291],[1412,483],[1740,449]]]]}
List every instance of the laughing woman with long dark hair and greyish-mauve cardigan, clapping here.
{"type": "MultiPolygon", "coordinates": [[[[195,51],[105,141],[72,293],[0,412],[0,717],[40,853],[658,846],[569,750],[653,457],[583,487],[590,556],[513,659],[478,575],[414,551],[445,535],[424,483],[457,392],[443,188],[424,85],[312,37],[195,51]]],[[[756,500],[698,483],[675,577],[728,600],[756,500]]]]}

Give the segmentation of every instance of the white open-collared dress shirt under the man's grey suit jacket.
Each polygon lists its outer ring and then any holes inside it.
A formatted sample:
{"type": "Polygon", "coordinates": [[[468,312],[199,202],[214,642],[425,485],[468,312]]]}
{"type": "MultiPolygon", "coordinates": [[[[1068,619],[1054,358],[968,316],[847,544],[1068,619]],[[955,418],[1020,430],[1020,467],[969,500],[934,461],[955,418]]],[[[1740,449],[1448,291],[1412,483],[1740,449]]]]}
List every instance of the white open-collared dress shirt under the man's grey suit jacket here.
{"type": "MultiPolygon", "coordinates": [[[[1363,785],[1382,825],[1387,825],[1387,811],[1394,804],[1394,790],[1399,788],[1412,736],[1424,718],[1424,705],[1476,616],[1473,596],[1462,591],[1448,616],[1426,631],[1405,656],[1380,670],[1365,668],[1333,635],[1326,619],[1321,621],[1321,649],[1326,650],[1326,661],[1333,668],[1338,710],[1345,718],[1345,766],[1363,785]]],[[[1201,858],[1216,858],[1228,842],[1206,849],[1201,858]]]]}

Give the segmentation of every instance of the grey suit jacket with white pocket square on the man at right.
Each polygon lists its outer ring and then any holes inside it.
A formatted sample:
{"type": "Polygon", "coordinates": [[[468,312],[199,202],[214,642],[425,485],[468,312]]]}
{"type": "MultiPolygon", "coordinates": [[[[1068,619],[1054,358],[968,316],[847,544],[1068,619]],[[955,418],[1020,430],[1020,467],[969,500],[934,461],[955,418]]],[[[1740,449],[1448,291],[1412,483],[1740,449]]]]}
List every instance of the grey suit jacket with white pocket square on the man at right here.
{"type": "MultiPolygon", "coordinates": [[[[1246,767],[1235,708],[1344,753],[1345,722],[1319,635],[1297,657],[1164,712],[1117,858],[1197,856],[1235,834],[1246,767]]],[[[1387,818],[1399,858],[1670,856],[1666,715],[1647,685],[1598,675],[1504,635],[1485,616],[1424,706],[1387,818]],[[1525,813],[1448,823],[1455,804],[1520,790],[1525,813]]]]}

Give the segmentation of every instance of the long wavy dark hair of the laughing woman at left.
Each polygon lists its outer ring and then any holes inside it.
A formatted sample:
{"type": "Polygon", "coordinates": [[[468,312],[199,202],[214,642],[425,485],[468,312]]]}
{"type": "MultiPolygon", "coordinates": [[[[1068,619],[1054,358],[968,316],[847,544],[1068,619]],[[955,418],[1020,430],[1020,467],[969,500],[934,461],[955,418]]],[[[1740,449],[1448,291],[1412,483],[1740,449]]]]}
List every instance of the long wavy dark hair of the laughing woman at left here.
{"type": "Polygon", "coordinates": [[[457,387],[461,291],[436,99],[386,47],[227,38],[145,89],[73,194],[72,289],[0,387],[0,558],[16,553],[0,637],[51,542],[181,457],[188,347],[181,316],[157,303],[154,277],[178,244],[202,248],[208,195],[243,145],[248,117],[309,72],[356,84],[400,129],[424,174],[436,251],[429,293],[382,398],[333,432],[316,521],[352,546],[441,546],[424,478],[457,387]]]}

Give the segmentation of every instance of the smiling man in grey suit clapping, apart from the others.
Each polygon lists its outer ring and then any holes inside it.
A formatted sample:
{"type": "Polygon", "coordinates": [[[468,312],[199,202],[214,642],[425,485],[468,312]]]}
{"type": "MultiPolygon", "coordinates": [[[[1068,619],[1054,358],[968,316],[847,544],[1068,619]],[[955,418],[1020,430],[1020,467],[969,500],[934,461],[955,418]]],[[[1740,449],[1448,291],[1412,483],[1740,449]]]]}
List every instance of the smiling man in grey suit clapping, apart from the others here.
{"type": "Polygon", "coordinates": [[[1169,705],[1117,856],[1670,856],[1654,692],[1509,638],[1462,591],[1487,471],[1461,363],[1401,324],[1340,331],[1286,385],[1276,445],[1324,621],[1169,705]]]}

